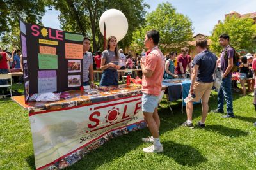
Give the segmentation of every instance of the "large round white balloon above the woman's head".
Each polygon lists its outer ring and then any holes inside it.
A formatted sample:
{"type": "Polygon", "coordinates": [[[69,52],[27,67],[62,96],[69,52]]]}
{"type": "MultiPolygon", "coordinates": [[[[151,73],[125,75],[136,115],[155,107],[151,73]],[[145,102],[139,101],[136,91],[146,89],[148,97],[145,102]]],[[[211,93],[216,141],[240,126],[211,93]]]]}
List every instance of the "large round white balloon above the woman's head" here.
{"type": "Polygon", "coordinates": [[[124,13],[116,9],[106,10],[100,17],[99,27],[104,34],[104,22],[106,25],[106,39],[115,36],[117,41],[124,38],[128,31],[128,21],[124,13]]]}

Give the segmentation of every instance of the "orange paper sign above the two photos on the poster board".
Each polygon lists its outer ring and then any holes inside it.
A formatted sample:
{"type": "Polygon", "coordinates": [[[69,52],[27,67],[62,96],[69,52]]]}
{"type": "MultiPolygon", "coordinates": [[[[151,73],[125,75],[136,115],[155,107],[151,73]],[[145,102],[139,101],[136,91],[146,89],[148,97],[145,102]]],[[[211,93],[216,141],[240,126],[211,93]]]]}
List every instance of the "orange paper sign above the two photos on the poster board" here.
{"type": "Polygon", "coordinates": [[[83,45],[65,43],[66,59],[83,59],[83,45]]]}

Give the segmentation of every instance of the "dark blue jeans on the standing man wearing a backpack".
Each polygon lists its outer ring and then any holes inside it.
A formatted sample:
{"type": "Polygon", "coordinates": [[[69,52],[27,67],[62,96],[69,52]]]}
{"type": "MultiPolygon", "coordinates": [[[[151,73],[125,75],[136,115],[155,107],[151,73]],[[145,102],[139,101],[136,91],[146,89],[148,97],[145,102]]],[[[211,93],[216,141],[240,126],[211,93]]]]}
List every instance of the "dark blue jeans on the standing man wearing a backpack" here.
{"type": "Polygon", "coordinates": [[[227,104],[227,114],[234,116],[233,112],[233,99],[232,99],[232,90],[231,90],[231,78],[232,75],[229,75],[222,79],[220,89],[218,90],[218,111],[224,111],[224,99],[227,104]]]}

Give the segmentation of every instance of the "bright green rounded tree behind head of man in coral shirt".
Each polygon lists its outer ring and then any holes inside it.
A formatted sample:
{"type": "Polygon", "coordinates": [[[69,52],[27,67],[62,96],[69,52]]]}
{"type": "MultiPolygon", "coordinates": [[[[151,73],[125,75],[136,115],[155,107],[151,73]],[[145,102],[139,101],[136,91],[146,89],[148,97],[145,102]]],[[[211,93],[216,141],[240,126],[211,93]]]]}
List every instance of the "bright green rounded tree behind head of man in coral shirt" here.
{"type": "Polygon", "coordinates": [[[187,45],[193,37],[192,22],[181,13],[177,13],[170,3],[159,4],[155,11],[148,13],[145,25],[136,30],[133,34],[131,47],[133,50],[143,48],[143,40],[147,31],[156,29],[160,33],[159,48],[163,53],[168,52],[173,47],[187,45]]]}

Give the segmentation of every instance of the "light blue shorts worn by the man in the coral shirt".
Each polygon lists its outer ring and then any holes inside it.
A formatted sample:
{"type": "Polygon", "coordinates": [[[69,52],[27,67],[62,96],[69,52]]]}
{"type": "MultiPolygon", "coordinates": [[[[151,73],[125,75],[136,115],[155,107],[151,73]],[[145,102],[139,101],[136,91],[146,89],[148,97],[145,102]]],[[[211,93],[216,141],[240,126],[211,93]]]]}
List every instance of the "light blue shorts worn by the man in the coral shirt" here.
{"type": "Polygon", "coordinates": [[[142,111],[148,113],[154,113],[155,108],[158,107],[159,96],[152,94],[142,94],[142,111]]]}

